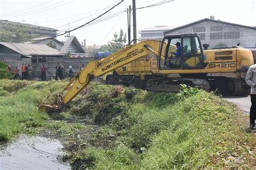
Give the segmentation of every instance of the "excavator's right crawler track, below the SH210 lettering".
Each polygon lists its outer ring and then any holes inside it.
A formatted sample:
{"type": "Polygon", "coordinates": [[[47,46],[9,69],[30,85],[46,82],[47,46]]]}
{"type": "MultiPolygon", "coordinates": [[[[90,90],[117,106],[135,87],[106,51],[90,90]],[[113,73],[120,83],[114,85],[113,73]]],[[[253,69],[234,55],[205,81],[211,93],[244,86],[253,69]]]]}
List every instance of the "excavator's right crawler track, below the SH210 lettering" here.
{"type": "Polygon", "coordinates": [[[217,91],[225,96],[247,95],[250,89],[244,79],[215,76],[208,77],[208,82],[212,91],[217,91]]]}

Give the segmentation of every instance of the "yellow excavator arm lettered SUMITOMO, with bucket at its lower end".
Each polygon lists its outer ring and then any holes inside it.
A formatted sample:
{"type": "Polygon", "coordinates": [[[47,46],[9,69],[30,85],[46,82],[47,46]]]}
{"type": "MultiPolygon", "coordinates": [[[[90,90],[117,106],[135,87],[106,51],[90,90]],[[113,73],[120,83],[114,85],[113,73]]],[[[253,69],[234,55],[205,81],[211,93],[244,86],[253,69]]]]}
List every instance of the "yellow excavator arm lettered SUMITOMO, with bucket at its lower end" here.
{"type": "MultiPolygon", "coordinates": [[[[102,60],[89,62],[56,96],[52,104],[41,104],[39,109],[46,112],[62,110],[65,105],[75,98],[95,77],[102,76],[145,55],[158,55],[160,43],[160,40],[140,41],[136,45],[127,45],[102,60]],[[66,91],[66,93],[62,96],[64,91],[66,91]]],[[[165,43],[164,45],[166,46],[165,43]]],[[[161,59],[164,60],[163,53],[161,54],[161,59]]]]}

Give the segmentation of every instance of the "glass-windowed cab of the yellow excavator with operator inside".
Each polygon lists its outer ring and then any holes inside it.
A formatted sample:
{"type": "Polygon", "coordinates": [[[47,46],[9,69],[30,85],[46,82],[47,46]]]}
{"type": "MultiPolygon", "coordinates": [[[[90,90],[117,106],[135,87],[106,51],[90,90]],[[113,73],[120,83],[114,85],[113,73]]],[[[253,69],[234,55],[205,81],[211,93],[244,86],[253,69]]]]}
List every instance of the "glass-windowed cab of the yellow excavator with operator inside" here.
{"type": "Polygon", "coordinates": [[[159,69],[200,69],[204,68],[203,49],[197,34],[176,34],[165,36],[161,44],[159,69]],[[174,44],[176,46],[174,46],[174,44]]]}

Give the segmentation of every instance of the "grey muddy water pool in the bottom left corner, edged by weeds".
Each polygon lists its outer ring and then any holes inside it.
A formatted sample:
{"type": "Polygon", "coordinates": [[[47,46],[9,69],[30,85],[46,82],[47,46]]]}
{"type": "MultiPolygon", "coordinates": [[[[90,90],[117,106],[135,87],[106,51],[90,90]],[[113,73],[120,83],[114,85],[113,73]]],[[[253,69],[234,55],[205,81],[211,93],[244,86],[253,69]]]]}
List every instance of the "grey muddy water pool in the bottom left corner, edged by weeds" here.
{"type": "Polygon", "coordinates": [[[20,137],[0,150],[0,169],[70,169],[57,160],[64,154],[59,140],[20,137]]]}

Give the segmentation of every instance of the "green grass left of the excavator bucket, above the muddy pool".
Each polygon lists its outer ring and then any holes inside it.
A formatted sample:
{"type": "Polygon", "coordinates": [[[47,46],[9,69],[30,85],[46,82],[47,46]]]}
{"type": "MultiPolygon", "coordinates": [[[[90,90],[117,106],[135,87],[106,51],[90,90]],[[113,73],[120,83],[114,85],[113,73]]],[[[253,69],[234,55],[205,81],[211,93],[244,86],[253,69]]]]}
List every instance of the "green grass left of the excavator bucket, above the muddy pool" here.
{"type": "Polygon", "coordinates": [[[55,117],[38,111],[38,105],[46,96],[54,96],[66,83],[1,80],[0,143],[11,140],[19,133],[36,134],[48,129],[56,134],[69,134],[74,127],[83,128],[82,125],[70,126],[66,121],[56,121],[55,117]]]}

